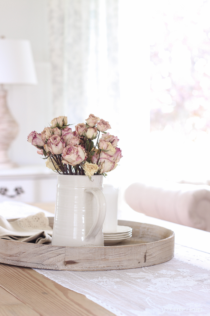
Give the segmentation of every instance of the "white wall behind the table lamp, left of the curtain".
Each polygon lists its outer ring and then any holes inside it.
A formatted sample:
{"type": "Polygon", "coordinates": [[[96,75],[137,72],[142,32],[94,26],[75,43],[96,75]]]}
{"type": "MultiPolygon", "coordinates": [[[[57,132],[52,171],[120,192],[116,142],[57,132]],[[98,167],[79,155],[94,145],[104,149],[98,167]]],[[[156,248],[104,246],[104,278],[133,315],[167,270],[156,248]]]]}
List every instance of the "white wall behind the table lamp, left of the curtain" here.
{"type": "Polygon", "coordinates": [[[48,50],[47,0],[0,0],[0,36],[31,42],[38,85],[7,86],[8,106],[19,123],[19,134],[9,150],[19,165],[44,164],[27,142],[31,131],[41,132],[53,119],[48,50]]]}

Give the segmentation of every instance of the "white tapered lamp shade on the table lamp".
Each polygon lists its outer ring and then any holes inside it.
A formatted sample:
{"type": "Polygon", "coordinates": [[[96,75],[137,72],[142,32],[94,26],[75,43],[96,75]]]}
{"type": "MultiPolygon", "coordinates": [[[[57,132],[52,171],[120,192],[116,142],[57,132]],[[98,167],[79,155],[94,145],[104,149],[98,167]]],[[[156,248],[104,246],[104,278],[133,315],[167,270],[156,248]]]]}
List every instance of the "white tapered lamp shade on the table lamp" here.
{"type": "Polygon", "coordinates": [[[0,39],[0,83],[37,84],[28,40],[0,39]]]}

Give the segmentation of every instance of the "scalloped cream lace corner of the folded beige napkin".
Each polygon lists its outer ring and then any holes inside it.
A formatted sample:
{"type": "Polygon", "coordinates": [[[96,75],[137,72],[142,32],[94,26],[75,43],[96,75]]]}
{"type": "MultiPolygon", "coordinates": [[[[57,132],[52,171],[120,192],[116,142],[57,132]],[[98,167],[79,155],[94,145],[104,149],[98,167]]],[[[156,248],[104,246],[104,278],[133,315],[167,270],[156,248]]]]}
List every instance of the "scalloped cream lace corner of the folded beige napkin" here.
{"type": "Polygon", "coordinates": [[[27,217],[19,218],[17,220],[18,225],[25,230],[43,229],[51,230],[49,226],[48,217],[43,212],[39,212],[36,215],[30,215],[27,217]]]}

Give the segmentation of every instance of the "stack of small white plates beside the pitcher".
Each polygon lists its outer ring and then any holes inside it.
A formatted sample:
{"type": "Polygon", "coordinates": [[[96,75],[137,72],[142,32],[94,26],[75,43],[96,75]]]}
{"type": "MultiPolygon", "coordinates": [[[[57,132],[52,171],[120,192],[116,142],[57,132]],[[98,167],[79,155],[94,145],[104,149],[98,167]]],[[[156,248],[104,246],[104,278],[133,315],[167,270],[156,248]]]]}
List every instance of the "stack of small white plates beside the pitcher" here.
{"type": "Polygon", "coordinates": [[[129,226],[117,225],[117,231],[113,233],[104,232],[104,244],[118,244],[122,240],[126,240],[132,236],[132,228],[129,226]]]}

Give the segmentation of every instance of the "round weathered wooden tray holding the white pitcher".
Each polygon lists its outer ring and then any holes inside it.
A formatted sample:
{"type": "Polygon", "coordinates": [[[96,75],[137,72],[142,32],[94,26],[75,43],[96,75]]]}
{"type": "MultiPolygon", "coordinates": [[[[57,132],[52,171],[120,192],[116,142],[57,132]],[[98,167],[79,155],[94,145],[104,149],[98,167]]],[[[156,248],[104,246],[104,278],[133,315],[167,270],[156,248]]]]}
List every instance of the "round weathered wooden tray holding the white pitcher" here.
{"type": "MultiPolygon", "coordinates": [[[[54,217],[49,217],[53,227],[54,217]]],[[[12,221],[12,220],[9,220],[12,221]]],[[[118,221],[132,237],[115,246],[64,247],[0,239],[0,262],[70,271],[121,270],[160,264],[173,258],[174,233],[151,224],[118,221]]]]}

